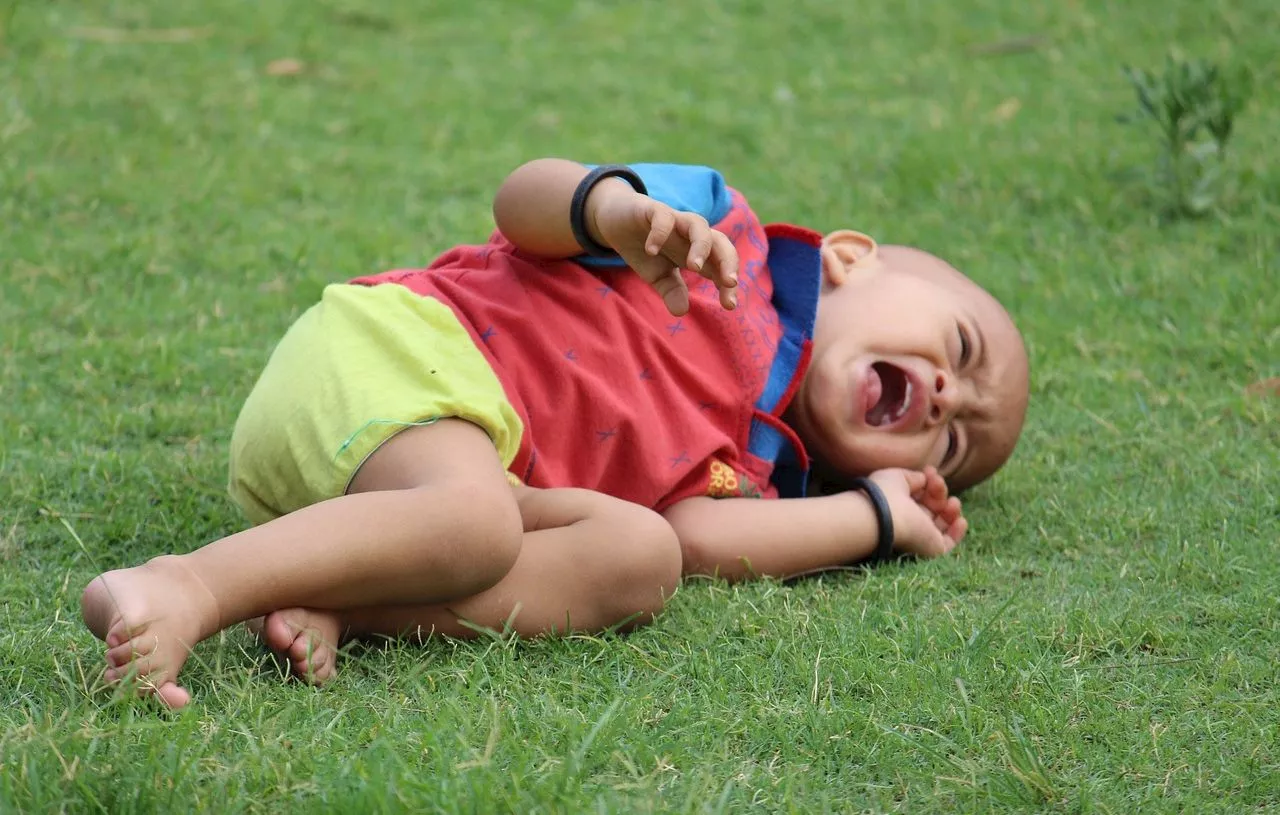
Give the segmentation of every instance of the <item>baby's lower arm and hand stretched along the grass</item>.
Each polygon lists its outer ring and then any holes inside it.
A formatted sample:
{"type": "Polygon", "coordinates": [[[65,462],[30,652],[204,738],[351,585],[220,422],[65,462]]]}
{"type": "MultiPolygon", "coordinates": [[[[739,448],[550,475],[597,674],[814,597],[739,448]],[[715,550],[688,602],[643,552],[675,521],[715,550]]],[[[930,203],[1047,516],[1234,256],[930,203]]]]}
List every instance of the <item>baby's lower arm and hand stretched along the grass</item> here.
{"type": "MultiPolygon", "coordinates": [[[[888,500],[895,549],[916,557],[951,551],[968,522],[932,467],[872,475],[888,500]]],[[[815,498],[691,498],[663,513],[676,530],[685,574],[727,580],[787,577],[858,563],[876,550],[878,526],[861,493],[815,498]]]]}

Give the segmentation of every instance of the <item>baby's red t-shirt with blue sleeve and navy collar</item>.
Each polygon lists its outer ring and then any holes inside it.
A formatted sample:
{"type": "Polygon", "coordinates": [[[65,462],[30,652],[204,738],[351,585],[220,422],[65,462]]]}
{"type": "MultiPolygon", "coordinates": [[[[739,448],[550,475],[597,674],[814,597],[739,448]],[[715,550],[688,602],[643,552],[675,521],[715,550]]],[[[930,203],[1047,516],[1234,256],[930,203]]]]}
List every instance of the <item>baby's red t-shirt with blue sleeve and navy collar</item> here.
{"type": "Polygon", "coordinates": [[[690,311],[673,317],[625,266],[531,257],[500,233],[426,269],[353,283],[397,283],[453,310],[525,423],[511,466],[525,484],[593,489],[658,510],[694,495],[800,494],[808,459],[778,417],[808,365],[820,237],[765,230],[713,170],[635,169],[654,197],[676,198],[677,209],[692,197],[717,216],[708,220],[739,252],[736,310],[685,273],[690,311]],[[780,462],[792,471],[788,484],[774,482],[780,462]]]}

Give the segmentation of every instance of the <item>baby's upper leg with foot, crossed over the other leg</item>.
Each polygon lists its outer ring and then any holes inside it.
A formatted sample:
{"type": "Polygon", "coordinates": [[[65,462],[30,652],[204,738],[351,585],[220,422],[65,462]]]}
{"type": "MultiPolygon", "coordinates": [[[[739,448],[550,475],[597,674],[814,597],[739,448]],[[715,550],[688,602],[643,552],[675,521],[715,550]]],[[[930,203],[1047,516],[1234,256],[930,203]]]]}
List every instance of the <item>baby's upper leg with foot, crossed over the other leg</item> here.
{"type": "Polygon", "coordinates": [[[191,649],[280,608],[440,603],[497,583],[516,562],[521,514],[488,435],[461,420],[411,427],[334,498],[184,555],[95,578],[84,622],[106,641],[108,679],[145,677],[170,706],[191,649]],[[372,476],[370,476],[372,477],[372,476]]]}

